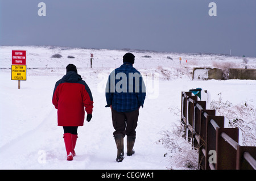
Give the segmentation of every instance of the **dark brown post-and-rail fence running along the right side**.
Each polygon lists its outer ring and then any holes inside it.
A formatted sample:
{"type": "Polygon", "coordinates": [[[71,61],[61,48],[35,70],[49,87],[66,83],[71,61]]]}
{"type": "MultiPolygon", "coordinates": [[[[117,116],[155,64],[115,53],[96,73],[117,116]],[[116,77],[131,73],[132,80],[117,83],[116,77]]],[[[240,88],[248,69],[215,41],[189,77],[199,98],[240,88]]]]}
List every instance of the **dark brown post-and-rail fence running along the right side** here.
{"type": "Polygon", "coordinates": [[[206,102],[181,92],[181,123],[192,149],[199,150],[199,169],[256,170],[256,146],[238,144],[238,128],[224,128],[224,116],[206,110],[206,102]]]}

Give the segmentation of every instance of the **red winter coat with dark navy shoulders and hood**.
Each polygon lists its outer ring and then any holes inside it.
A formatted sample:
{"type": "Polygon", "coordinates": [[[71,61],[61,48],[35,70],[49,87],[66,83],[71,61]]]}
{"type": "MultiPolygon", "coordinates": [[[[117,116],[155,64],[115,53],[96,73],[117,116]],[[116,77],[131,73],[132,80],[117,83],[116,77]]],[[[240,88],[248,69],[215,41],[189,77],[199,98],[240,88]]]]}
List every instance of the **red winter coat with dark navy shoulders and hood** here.
{"type": "Polygon", "coordinates": [[[63,127],[84,125],[85,111],[93,111],[92,92],[75,71],[68,71],[56,82],[52,103],[58,110],[58,125],[63,127]]]}

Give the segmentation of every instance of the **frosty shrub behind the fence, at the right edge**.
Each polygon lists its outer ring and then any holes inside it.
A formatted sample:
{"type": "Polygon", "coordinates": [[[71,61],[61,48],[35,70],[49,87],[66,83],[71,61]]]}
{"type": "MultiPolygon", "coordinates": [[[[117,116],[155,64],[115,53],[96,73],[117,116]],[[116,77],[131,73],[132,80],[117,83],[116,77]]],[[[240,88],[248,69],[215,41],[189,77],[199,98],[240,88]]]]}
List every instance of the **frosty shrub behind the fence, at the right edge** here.
{"type": "Polygon", "coordinates": [[[229,101],[222,102],[221,92],[219,100],[212,100],[210,108],[228,120],[228,127],[238,127],[242,132],[243,146],[256,146],[256,108],[247,103],[233,105],[229,101]]]}

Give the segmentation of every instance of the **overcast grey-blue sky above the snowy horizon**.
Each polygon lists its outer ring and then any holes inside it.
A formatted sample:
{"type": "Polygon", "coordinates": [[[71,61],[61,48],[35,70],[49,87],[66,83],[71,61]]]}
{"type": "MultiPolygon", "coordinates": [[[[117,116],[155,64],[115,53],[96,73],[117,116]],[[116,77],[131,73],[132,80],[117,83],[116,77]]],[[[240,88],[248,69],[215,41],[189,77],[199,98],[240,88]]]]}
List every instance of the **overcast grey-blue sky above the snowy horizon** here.
{"type": "Polygon", "coordinates": [[[0,0],[0,45],[256,57],[255,0],[0,0]],[[46,16],[39,16],[39,2],[46,16]],[[217,16],[209,16],[210,2],[217,16]]]}

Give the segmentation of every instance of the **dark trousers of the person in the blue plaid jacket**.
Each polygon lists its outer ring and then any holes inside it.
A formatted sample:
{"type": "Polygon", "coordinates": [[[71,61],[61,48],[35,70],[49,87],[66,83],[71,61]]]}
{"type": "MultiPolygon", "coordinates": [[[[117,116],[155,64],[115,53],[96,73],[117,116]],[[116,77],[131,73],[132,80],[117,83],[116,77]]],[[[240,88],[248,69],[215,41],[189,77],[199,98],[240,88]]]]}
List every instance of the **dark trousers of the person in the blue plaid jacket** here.
{"type": "Polygon", "coordinates": [[[135,136],[137,128],[137,121],[139,117],[139,110],[132,112],[117,112],[112,109],[112,123],[115,131],[115,134],[125,134],[127,136],[135,136]]]}

